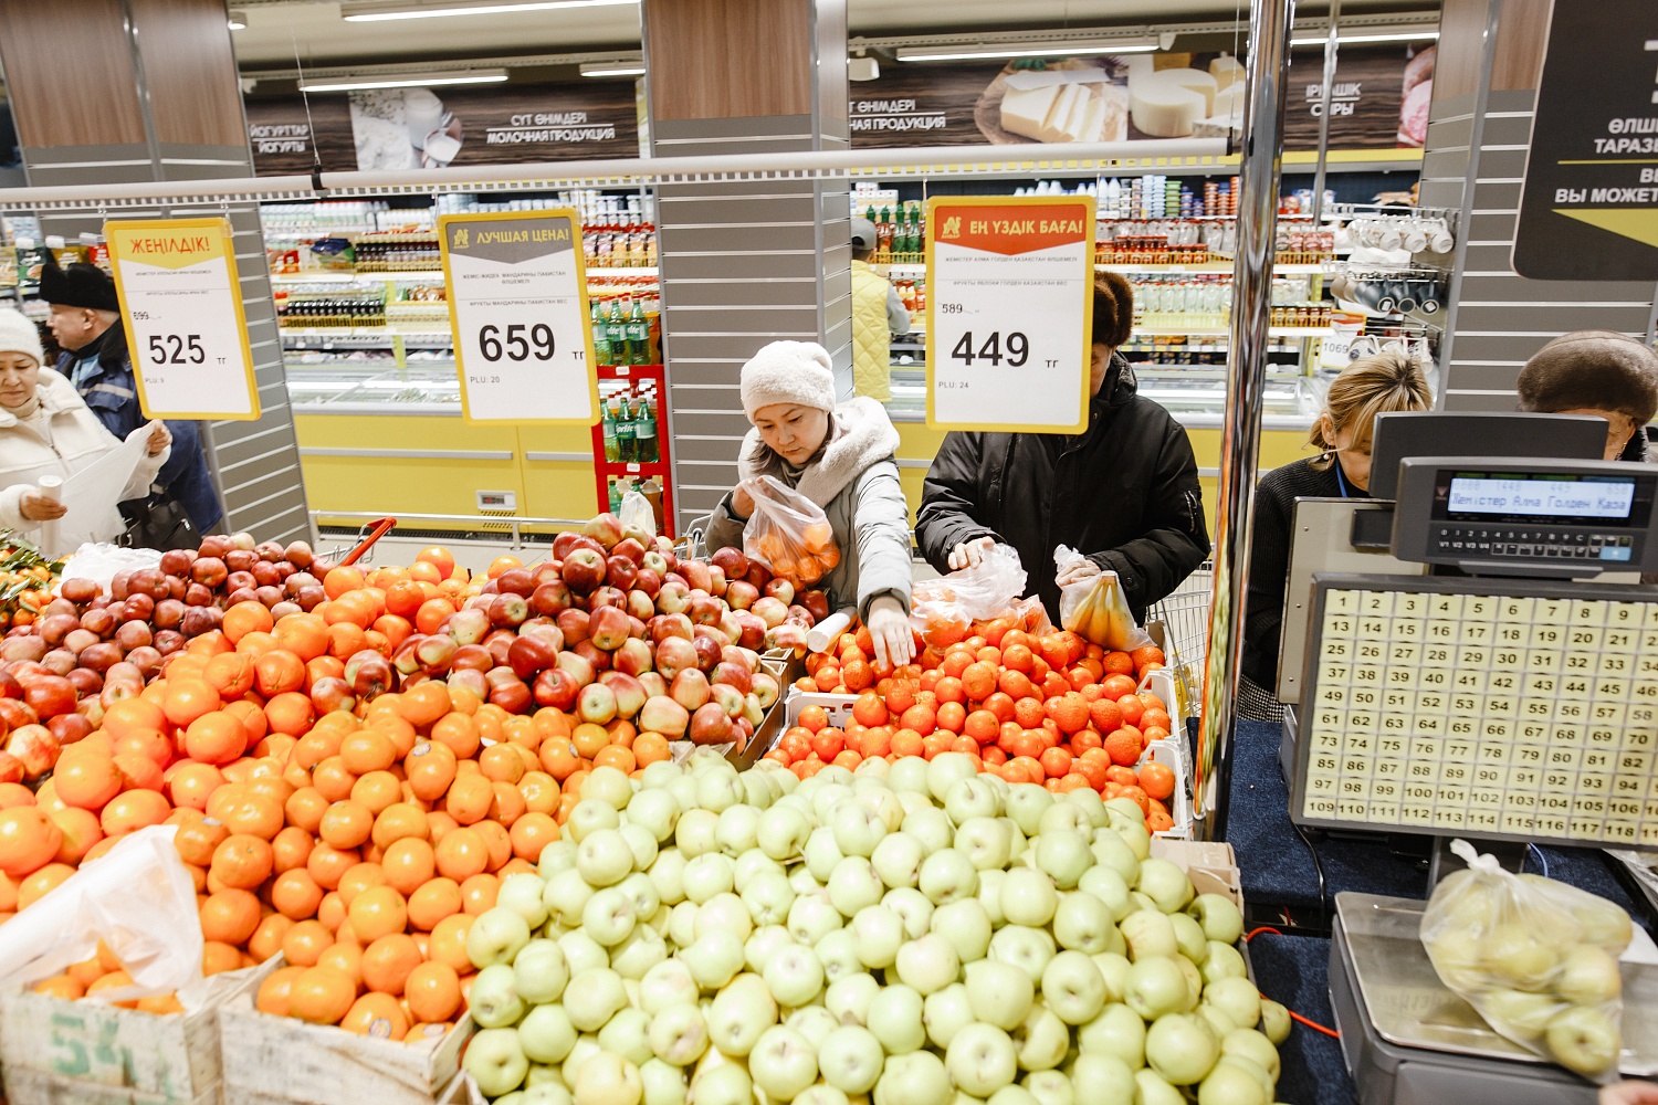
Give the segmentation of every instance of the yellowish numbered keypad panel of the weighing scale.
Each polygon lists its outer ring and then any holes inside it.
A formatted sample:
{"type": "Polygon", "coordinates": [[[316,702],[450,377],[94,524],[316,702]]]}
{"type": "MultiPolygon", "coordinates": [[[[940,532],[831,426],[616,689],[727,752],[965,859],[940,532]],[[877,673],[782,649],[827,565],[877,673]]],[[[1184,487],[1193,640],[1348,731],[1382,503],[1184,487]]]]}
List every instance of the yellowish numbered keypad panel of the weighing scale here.
{"type": "Polygon", "coordinates": [[[1658,603],[1333,588],[1302,815],[1658,847],[1658,603]]]}

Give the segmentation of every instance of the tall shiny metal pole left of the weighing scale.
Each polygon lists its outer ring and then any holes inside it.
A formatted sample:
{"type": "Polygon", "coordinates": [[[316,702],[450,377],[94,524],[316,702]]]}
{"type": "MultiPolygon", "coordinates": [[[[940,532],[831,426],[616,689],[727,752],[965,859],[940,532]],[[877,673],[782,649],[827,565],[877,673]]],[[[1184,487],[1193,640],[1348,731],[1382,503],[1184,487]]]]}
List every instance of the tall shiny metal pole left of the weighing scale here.
{"type": "Polygon", "coordinates": [[[1197,736],[1195,817],[1199,835],[1225,835],[1227,780],[1237,729],[1245,577],[1253,519],[1260,411],[1272,318],[1273,239],[1283,167],[1283,104],[1288,99],[1290,25],[1295,0],[1255,0],[1250,8],[1248,84],[1244,118],[1244,179],[1239,250],[1232,270],[1232,371],[1220,437],[1220,502],[1215,510],[1215,598],[1209,611],[1204,712],[1197,736]]]}

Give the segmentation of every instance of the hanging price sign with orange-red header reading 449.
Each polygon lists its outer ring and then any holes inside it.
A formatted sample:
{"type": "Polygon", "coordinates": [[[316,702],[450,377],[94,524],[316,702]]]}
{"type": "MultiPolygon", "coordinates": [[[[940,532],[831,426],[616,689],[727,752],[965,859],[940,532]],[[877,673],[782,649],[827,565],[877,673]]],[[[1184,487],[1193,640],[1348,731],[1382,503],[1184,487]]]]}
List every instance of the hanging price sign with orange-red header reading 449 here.
{"type": "Polygon", "coordinates": [[[927,204],[927,424],[1088,429],[1094,200],[927,204]]]}

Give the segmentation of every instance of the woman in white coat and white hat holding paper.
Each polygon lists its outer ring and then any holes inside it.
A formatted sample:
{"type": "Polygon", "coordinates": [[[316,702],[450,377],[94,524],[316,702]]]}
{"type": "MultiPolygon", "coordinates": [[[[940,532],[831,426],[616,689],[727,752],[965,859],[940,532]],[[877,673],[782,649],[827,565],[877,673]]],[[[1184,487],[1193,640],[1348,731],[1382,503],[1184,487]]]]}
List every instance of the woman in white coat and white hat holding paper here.
{"type": "MultiPolygon", "coordinates": [[[[121,447],[70,381],[41,368],[43,361],[35,323],[13,310],[0,310],[0,525],[23,533],[61,519],[73,505],[41,495],[43,475],[68,480],[121,447]]],[[[161,421],[139,426],[128,439],[143,439],[144,449],[118,502],[148,494],[172,451],[172,436],[161,421]]],[[[78,528],[81,532],[58,535],[65,548],[48,552],[68,552],[83,540],[114,540],[126,524],[111,502],[78,528]]]]}

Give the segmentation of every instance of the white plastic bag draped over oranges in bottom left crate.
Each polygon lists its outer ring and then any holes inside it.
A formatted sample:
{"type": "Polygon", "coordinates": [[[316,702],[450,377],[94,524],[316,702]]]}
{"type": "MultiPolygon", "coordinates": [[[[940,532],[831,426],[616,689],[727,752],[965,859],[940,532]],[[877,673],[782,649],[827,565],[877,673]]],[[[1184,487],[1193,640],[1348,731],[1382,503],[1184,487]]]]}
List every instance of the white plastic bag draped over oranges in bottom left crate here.
{"type": "Polygon", "coordinates": [[[0,928],[0,991],[20,989],[98,954],[103,939],[133,986],[101,1001],[177,992],[199,1002],[202,926],[196,885],[172,843],[177,825],[141,828],[0,928]]]}

